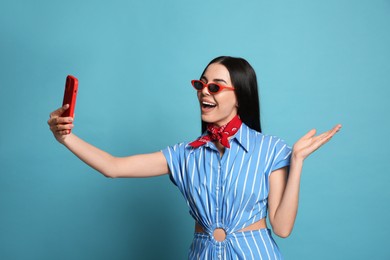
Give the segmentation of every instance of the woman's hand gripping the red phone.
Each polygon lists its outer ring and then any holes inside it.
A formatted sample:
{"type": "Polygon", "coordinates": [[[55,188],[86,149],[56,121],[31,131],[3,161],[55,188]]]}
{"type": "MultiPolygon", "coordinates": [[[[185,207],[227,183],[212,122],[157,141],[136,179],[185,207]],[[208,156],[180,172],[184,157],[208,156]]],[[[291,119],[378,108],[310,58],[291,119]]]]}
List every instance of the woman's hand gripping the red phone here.
{"type": "Polygon", "coordinates": [[[60,143],[64,143],[65,139],[69,136],[71,129],[74,127],[72,117],[61,117],[64,111],[66,111],[68,108],[69,105],[66,104],[53,111],[50,114],[49,120],[47,121],[54,137],[60,143]]]}

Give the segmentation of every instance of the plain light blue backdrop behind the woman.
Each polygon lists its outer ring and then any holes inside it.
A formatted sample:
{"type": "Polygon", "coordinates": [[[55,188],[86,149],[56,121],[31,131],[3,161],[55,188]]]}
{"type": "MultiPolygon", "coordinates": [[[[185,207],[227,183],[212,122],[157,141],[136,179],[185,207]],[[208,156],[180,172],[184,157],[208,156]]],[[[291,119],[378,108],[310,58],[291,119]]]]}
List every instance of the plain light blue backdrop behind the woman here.
{"type": "Polygon", "coordinates": [[[107,179],[49,113],[79,78],[74,132],[117,156],[200,132],[189,81],[219,55],[258,74],[265,133],[342,131],[307,160],[286,259],[390,259],[390,1],[0,2],[0,259],[185,259],[167,178],[107,179]]]}

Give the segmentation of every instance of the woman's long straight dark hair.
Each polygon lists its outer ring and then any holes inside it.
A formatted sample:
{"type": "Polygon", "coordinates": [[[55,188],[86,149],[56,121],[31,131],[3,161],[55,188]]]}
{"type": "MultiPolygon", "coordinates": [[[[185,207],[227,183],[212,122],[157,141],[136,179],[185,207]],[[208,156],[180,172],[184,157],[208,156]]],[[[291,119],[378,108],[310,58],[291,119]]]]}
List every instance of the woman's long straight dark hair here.
{"type": "MultiPolygon", "coordinates": [[[[241,120],[250,128],[261,132],[257,79],[252,66],[243,58],[220,56],[210,61],[202,72],[202,76],[213,63],[222,64],[229,71],[237,97],[237,112],[241,120]]],[[[207,123],[202,120],[202,133],[206,129],[207,123]]]]}

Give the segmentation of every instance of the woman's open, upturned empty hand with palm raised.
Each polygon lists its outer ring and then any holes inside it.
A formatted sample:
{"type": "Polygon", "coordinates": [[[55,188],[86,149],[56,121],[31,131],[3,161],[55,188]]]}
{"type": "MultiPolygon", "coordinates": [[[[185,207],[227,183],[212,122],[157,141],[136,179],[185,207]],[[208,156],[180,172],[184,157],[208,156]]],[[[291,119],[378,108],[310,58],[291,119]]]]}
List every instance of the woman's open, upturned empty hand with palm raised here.
{"type": "Polygon", "coordinates": [[[317,136],[315,136],[317,132],[315,129],[310,130],[294,144],[293,157],[301,160],[306,159],[310,154],[327,143],[340,129],[341,125],[338,124],[329,131],[317,136]]]}

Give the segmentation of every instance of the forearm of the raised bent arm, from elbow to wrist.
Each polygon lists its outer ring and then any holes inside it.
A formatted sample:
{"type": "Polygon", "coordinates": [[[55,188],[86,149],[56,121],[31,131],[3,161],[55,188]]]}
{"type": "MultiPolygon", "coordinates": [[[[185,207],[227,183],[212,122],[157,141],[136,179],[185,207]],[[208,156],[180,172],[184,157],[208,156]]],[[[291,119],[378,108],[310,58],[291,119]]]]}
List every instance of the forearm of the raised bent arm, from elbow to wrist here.
{"type": "Polygon", "coordinates": [[[272,221],[275,234],[281,237],[289,236],[294,227],[298,212],[302,167],[303,160],[293,156],[291,158],[286,187],[272,221]]]}

